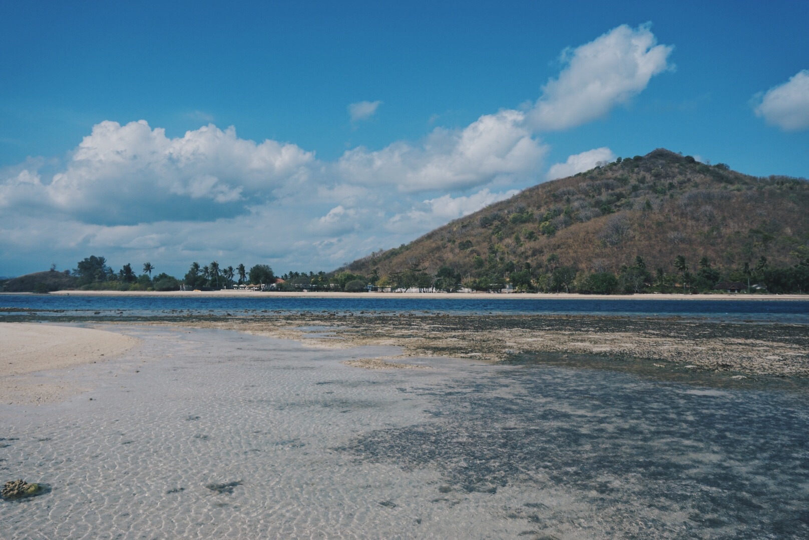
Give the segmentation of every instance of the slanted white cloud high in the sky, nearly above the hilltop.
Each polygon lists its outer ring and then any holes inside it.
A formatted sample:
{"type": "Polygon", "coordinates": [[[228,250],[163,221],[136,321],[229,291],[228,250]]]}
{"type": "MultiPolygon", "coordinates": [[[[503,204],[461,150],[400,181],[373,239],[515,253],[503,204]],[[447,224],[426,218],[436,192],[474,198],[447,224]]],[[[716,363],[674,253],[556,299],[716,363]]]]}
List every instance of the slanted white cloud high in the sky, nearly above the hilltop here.
{"type": "Polygon", "coordinates": [[[673,47],[657,44],[650,24],[625,24],[562,53],[565,69],[542,88],[530,112],[536,129],[567,129],[606,115],[646,88],[650,79],[672,66],[673,47]]]}

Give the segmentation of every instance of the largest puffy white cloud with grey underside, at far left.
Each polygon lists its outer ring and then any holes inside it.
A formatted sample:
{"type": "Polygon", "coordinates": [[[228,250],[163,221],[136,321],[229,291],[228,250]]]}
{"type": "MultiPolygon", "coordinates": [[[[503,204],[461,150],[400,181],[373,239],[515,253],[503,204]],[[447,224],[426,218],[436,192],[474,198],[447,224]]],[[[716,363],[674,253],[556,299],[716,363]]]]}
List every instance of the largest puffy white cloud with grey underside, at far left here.
{"type": "Polygon", "coordinates": [[[307,175],[314,154],[277,141],[240,139],[209,124],[166,137],[145,120],[104,121],[49,179],[24,170],[0,179],[0,208],[28,201],[104,224],[210,219],[244,212],[292,177],[307,175]]]}

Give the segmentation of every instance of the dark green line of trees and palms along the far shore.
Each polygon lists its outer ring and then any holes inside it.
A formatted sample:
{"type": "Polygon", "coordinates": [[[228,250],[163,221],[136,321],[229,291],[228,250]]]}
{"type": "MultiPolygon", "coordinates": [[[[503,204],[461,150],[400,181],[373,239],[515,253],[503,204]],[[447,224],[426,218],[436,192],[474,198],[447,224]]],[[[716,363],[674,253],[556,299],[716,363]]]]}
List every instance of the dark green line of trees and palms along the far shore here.
{"type": "Polygon", "coordinates": [[[156,273],[146,262],[138,274],[132,264],[114,271],[103,256],[91,255],[78,261],[73,270],[46,272],[0,282],[6,292],[49,293],[57,290],[83,291],[179,291],[251,288],[262,291],[347,292],[500,292],[521,293],[806,293],[809,290],[809,255],[791,266],[769,264],[760,256],[756,264],[744,263],[736,268],[715,267],[707,258],[688,261],[677,255],[668,268],[647,267],[641,255],[618,272],[585,271],[570,264],[560,264],[558,255],[548,255],[535,268],[531,263],[518,267],[513,261],[482,258],[477,272],[466,276],[442,266],[436,272],[412,265],[400,272],[380,275],[373,268],[367,275],[339,272],[286,272],[276,276],[267,264],[244,264],[222,267],[217,261],[201,265],[193,262],[184,276],[177,278],[166,272],[156,273]],[[153,272],[155,275],[153,276],[153,272]]]}

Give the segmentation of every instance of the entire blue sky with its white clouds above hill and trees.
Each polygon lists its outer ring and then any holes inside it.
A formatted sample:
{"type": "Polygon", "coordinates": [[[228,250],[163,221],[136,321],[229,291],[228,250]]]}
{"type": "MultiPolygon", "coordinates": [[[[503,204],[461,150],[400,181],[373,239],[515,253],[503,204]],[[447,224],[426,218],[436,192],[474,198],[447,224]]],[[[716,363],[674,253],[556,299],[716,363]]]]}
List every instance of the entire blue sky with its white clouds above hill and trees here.
{"type": "Polygon", "coordinates": [[[4,2],[0,275],[328,270],[657,147],[809,175],[809,4],[657,3],[4,2]]]}

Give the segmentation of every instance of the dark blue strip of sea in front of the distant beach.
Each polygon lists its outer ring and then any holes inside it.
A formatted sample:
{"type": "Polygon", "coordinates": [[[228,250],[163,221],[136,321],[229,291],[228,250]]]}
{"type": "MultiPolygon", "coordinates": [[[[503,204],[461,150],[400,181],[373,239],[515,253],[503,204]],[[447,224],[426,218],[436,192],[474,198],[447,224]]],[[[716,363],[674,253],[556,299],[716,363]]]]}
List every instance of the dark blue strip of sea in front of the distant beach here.
{"type": "MultiPolygon", "coordinates": [[[[64,310],[57,315],[172,316],[192,314],[244,314],[330,311],[430,312],[454,314],[602,314],[681,316],[722,320],[754,320],[809,324],[809,301],[676,300],[676,299],[510,299],[466,298],[323,298],[278,297],[87,297],[53,295],[0,295],[0,307],[64,310]]],[[[0,315],[14,314],[6,311],[0,315]]],[[[41,316],[53,312],[43,311],[41,316]]]]}

